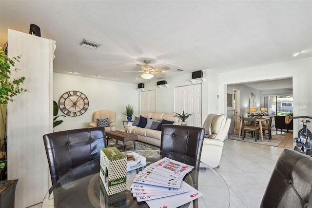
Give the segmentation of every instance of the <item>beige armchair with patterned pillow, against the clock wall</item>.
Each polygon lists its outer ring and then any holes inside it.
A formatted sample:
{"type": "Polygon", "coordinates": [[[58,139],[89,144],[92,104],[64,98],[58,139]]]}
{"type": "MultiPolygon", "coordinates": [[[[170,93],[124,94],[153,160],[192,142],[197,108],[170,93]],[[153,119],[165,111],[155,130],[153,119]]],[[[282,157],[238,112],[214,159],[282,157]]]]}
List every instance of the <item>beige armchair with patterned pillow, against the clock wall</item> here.
{"type": "Polygon", "coordinates": [[[99,110],[93,114],[93,122],[89,124],[89,127],[97,127],[98,119],[107,119],[108,126],[105,126],[105,132],[114,131],[116,126],[116,114],[111,110],[99,110]]]}

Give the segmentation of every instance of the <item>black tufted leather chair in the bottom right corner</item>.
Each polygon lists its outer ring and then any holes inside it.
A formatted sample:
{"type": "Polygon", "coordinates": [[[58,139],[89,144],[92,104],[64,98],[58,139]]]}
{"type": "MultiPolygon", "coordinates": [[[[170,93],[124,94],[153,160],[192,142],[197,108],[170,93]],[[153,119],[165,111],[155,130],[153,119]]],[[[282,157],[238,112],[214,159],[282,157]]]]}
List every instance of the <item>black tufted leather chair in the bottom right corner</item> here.
{"type": "Polygon", "coordinates": [[[312,208],[312,158],[284,149],[278,158],[260,208],[312,208]]]}

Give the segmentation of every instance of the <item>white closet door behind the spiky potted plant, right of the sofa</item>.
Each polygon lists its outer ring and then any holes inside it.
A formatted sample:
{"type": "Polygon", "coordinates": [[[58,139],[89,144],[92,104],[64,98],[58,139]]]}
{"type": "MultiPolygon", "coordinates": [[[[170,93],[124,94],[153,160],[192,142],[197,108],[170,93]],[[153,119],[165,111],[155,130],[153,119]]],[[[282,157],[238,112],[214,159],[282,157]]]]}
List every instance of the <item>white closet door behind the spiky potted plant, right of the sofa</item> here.
{"type": "Polygon", "coordinates": [[[175,88],[175,112],[193,113],[187,125],[201,127],[201,84],[175,88]]]}

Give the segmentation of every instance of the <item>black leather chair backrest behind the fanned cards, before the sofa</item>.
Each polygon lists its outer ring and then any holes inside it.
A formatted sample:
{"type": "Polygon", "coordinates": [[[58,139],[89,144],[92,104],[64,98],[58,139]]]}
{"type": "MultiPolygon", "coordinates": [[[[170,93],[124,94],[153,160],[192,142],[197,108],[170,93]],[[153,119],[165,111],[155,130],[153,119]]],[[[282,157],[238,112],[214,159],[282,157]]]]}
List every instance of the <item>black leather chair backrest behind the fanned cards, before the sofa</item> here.
{"type": "Polygon", "coordinates": [[[160,150],[200,160],[205,129],[187,125],[162,125],[160,150]]]}

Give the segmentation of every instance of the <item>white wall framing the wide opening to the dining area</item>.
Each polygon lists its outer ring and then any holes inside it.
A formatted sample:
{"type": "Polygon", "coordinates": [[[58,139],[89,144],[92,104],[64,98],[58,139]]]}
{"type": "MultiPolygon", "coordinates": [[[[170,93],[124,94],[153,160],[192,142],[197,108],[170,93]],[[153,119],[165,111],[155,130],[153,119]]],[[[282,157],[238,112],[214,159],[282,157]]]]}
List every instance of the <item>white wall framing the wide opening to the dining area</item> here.
{"type": "MultiPolygon", "coordinates": [[[[312,57],[221,73],[221,94],[226,94],[227,84],[287,77],[292,77],[293,115],[312,116],[312,57]],[[306,105],[307,110],[300,110],[300,105],[306,105]]],[[[224,98],[221,98],[221,108],[222,113],[226,112],[227,105],[224,98]]],[[[293,124],[294,132],[302,127],[297,119],[294,120],[293,124]]],[[[309,128],[312,128],[311,123],[309,128]]]]}

